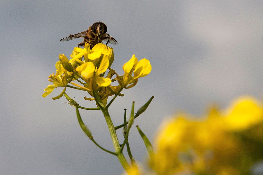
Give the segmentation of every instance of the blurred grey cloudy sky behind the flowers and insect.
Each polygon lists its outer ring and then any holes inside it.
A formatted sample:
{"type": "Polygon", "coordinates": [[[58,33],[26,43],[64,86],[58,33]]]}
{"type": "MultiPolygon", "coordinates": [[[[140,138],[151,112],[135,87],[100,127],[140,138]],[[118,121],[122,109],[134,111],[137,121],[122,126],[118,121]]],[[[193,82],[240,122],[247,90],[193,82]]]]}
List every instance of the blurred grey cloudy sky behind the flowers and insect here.
{"type": "MultiPolygon", "coordinates": [[[[69,57],[82,39],[59,40],[108,26],[118,45],[117,72],[133,54],[147,58],[152,72],[139,79],[110,108],[115,125],[152,95],[135,120],[151,141],[161,121],[179,110],[202,115],[211,103],[224,108],[237,96],[261,99],[263,92],[263,2],[260,1],[1,1],[0,174],[121,174],[117,157],[95,146],[80,129],[63,88],[41,97],[59,54],[69,57]]],[[[82,106],[87,94],[67,89],[82,106]]],[[[100,111],[80,111],[94,139],[113,150],[100,111]]],[[[134,126],[135,126],[134,125],[134,126]]],[[[121,129],[118,130],[122,140],[121,129]]],[[[122,141],[120,141],[122,142],[122,141]]],[[[147,155],[136,127],[129,142],[137,161],[147,155]]],[[[127,157],[128,158],[128,157],[127,157]]]]}

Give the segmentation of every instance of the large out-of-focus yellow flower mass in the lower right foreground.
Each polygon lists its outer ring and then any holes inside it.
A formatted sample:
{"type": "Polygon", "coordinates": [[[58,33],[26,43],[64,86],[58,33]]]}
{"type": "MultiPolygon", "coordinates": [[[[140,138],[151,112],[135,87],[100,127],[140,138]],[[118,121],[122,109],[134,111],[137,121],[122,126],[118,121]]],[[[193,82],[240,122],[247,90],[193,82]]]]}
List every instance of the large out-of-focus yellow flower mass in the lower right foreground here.
{"type": "MultiPolygon", "coordinates": [[[[262,161],[263,106],[254,98],[213,108],[201,120],[189,118],[179,114],[163,124],[149,160],[155,173],[147,174],[245,175],[262,161]]],[[[145,174],[133,169],[134,175],[145,174]]]]}

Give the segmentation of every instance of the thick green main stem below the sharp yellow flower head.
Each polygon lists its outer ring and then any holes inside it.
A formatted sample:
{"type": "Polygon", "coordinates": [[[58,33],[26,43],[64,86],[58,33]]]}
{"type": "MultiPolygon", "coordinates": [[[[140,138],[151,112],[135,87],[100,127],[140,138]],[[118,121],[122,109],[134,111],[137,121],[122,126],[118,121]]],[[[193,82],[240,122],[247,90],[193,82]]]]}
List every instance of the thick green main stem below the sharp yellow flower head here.
{"type": "Polygon", "coordinates": [[[129,173],[130,165],[128,164],[127,160],[125,159],[123,153],[120,151],[119,140],[118,140],[116,131],[114,129],[112,119],[110,118],[108,109],[102,108],[101,110],[102,110],[102,113],[105,117],[106,123],[108,125],[110,136],[112,137],[113,146],[114,146],[114,149],[117,153],[117,157],[118,157],[120,163],[122,164],[123,168],[125,169],[125,171],[127,171],[129,173]]]}

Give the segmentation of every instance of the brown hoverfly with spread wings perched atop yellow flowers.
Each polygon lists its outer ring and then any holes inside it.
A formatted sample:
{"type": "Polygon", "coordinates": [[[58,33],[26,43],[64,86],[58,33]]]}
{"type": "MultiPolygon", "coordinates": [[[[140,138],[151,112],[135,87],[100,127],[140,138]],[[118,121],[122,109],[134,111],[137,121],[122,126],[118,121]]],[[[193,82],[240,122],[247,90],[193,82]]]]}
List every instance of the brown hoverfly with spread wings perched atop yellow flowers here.
{"type": "Polygon", "coordinates": [[[96,22],[92,24],[87,31],[83,31],[74,35],[69,35],[66,38],[61,39],[60,41],[69,41],[75,38],[83,37],[84,41],[78,44],[79,46],[84,46],[85,42],[90,44],[90,49],[98,43],[101,43],[103,40],[107,40],[106,46],[108,43],[118,44],[118,42],[112,38],[107,32],[107,26],[102,22],[96,22]]]}

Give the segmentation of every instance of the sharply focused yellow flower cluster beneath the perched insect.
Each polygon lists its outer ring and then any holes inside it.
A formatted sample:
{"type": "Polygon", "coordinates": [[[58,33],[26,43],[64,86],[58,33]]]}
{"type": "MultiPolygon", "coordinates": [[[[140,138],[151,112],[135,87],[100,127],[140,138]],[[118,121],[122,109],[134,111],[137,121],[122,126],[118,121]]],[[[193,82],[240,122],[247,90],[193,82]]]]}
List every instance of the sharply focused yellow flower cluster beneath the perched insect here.
{"type": "MultiPolygon", "coordinates": [[[[49,76],[49,81],[53,84],[48,85],[42,96],[46,97],[57,87],[70,87],[87,91],[93,96],[93,91],[97,91],[104,103],[107,98],[114,94],[118,94],[123,88],[133,87],[138,78],[148,75],[151,71],[151,65],[149,60],[142,59],[138,61],[135,55],[123,65],[124,75],[118,76],[118,74],[110,68],[114,61],[113,49],[106,45],[99,43],[92,49],[90,45],[85,43],[84,48],[75,47],[70,55],[69,60],[65,55],[59,55],[59,60],[56,63],[56,74],[49,76]],[[108,73],[106,74],[106,71],[108,73]],[[134,73],[134,76],[132,76],[134,73]],[[112,77],[116,75],[116,78],[112,77]],[[78,81],[82,85],[73,83],[72,81],[78,81]],[[118,86],[111,86],[113,81],[118,81],[118,86]],[[70,86],[69,83],[74,86],[70,86]],[[128,86],[128,84],[131,84],[128,86]]],[[[64,91],[62,92],[64,94],[64,91]]],[[[123,94],[119,94],[122,96],[123,94]]],[[[62,96],[61,94],[58,96],[62,96]]],[[[94,96],[93,96],[94,97],[94,96]]],[[[53,99],[57,99],[56,97],[53,99]]],[[[86,98],[87,100],[94,100],[94,98],[86,98]]]]}

